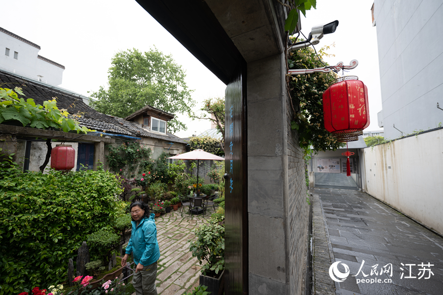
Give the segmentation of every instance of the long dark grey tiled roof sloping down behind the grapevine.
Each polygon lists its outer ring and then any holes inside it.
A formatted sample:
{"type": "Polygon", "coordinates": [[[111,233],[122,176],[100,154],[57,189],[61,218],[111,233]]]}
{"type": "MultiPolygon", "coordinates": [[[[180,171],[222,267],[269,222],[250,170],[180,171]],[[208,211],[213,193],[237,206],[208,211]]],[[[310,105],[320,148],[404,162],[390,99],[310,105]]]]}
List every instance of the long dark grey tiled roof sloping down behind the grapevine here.
{"type": "Polygon", "coordinates": [[[75,118],[80,125],[98,132],[158,138],[168,142],[187,144],[186,141],[171,133],[162,135],[149,132],[138,126],[135,122],[97,112],[85,104],[82,98],[66,93],[57,87],[42,84],[37,81],[26,80],[23,77],[3,70],[0,70],[0,84],[3,84],[1,86],[2,88],[14,89],[16,86],[21,87],[23,93],[26,95],[25,98],[32,98],[35,103],[41,105],[43,105],[45,100],[57,97],[57,106],[59,109],[66,109],[71,115],[80,114],[81,117],[75,118]]]}

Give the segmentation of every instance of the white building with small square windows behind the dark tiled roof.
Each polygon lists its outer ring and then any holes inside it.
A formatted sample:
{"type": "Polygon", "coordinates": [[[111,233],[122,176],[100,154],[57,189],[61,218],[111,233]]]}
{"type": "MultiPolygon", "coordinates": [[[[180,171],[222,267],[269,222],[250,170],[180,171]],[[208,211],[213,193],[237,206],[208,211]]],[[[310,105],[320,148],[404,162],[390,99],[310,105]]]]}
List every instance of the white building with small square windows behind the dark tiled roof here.
{"type": "Polygon", "coordinates": [[[64,66],[38,55],[40,46],[0,28],[0,68],[50,85],[62,84],[64,66]]]}

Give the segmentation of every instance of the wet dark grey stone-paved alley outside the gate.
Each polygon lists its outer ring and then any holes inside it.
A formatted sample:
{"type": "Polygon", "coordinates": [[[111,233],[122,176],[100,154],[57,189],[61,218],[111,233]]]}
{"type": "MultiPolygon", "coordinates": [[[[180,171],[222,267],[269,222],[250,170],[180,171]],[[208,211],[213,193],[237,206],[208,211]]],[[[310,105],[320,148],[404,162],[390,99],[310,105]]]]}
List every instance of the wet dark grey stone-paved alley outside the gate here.
{"type": "Polygon", "coordinates": [[[443,294],[442,237],[363,192],[312,189],[310,193],[315,295],[443,294]],[[346,272],[342,264],[349,267],[343,282],[329,276],[334,262],[341,262],[338,270],[342,273],[346,272]],[[424,266],[418,266],[422,263],[424,266]],[[433,266],[426,266],[428,263],[433,266]],[[392,276],[381,271],[389,264],[392,276]],[[376,278],[381,282],[357,284],[357,280],[376,278]]]}

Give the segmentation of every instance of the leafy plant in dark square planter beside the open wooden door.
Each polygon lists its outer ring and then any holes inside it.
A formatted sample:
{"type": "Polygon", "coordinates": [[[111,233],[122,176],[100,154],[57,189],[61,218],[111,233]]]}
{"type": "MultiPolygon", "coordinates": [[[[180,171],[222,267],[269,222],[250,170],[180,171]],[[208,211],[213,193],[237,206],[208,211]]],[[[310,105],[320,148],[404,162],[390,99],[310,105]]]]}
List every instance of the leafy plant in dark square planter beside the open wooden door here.
{"type": "Polygon", "coordinates": [[[189,250],[202,266],[200,285],[208,286],[206,291],[211,294],[219,294],[224,273],[224,222],[222,218],[212,218],[210,223],[200,225],[192,233],[197,240],[189,240],[189,250]]]}

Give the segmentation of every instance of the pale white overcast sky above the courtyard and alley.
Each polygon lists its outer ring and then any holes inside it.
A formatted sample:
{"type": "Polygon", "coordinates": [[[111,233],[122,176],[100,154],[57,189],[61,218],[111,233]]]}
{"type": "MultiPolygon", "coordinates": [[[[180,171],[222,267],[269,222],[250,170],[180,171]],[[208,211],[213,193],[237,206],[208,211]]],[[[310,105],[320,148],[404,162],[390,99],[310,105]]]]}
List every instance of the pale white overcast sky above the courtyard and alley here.
{"type": "MultiPolygon", "coordinates": [[[[197,102],[195,110],[208,97],[224,96],[225,85],[174,37],[154,20],[135,0],[0,0],[8,7],[2,13],[0,27],[39,45],[39,55],[65,66],[60,87],[89,96],[88,91],[106,86],[111,59],[120,50],[136,48],[148,51],[156,46],[171,54],[186,71],[186,82],[197,102]]],[[[381,110],[380,75],[376,28],[372,27],[373,0],[317,0],[317,9],[302,17],[302,32],[307,36],[312,26],[339,20],[333,34],[316,45],[319,49],[335,42],[326,59],[359,65],[348,75],[356,75],[368,87],[371,124],[366,130],[379,130],[377,113],[381,110]]],[[[187,131],[176,133],[189,137],[210,128],[209,121],[192,121],[184,116],[187,131]]]]}

